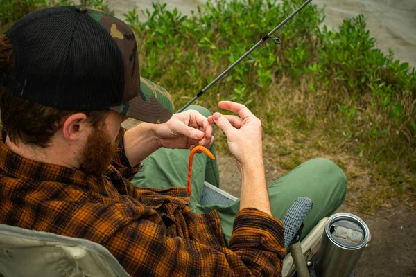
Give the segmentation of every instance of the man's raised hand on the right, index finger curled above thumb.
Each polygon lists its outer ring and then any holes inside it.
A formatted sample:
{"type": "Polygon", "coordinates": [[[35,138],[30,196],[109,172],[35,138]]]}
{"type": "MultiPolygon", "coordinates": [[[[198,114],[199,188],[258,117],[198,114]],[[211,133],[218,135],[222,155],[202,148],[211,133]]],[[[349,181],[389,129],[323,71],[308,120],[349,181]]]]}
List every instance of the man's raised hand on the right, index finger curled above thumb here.
{"type": "Polygon", "coordinates": [[[216,112],[208,118],[210,124],[217,125],[227,136],[229,150],[236,158],[239,167],[256,161],[263,162],[259,118],[254,116],[245,105],[236,102],[221,101],[218,106],[239,114],[239,116],[224,116],[216,112]]]}

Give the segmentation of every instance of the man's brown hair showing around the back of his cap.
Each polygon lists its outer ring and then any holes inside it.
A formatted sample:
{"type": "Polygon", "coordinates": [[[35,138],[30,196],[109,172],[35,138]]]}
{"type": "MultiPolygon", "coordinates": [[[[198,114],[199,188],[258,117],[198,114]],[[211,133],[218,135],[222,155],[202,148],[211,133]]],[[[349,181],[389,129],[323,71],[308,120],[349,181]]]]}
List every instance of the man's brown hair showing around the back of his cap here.
{"type": "MultiPolygon", "coordinates": [[[[7,35],[0,35],[0,78],[3,73],[12,75],[15,71],[15,55],[7,35]]],[[[79,111],[66,111],[29,102],[8,93],[3,84],[0,86],[0,111],[3,130],[10,141],[46,148],[55,132],[62,127],[62,119],[79,111]]],[[[94,127],[105,120],[108,110],[81,111],[94,127]]]]}

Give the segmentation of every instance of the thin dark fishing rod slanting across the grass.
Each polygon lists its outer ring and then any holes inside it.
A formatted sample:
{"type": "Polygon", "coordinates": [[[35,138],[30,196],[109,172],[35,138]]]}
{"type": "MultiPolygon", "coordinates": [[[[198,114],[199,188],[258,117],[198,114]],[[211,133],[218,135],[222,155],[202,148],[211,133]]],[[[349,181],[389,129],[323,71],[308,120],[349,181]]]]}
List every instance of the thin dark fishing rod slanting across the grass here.
{"type": "Polygon", "coordinates": [[[300,12],[306,5],[308,5],[309,3],[311,3],[311,1],[312,0],[307,0],[306,2],[304,2],[302,4],[302,6],[300,6],[294,12],[292,12],[291,15],[289,15],[288,17],[286,17],[286,19],[284,19],[284,21],[281,21],[281,23],[279,25],[277,25],[276,28],[274,28],[273,30],[271,30],[270,33],[268,33],[262,39],[260,39],[260,41],[257,42],[257,44],[254,44],[254,46],[252,46],[252,48],[250,48],[249,51],[245,52],[244,55],[242,55],[241,57],[239,57],[239,60],[236,60],[232,65],[229,66],[229,68],[225,69],[225,71],[223,73],[221,73],[220,75],[218,75],[217,78],[215,78],[212,82],[210,82],[207,85],[207,87],[205,87],[200,92],[198,92],[198,94],[196,96],[194,96],[189,102],[187,102],[186,105],[184,105],[184,107],[180,108],[177,112],[179,113],[179,112],[184,111],[184,109],[186,109],[189,105],[191,105],[193,102],[195,102],[195,100],[197,100],[198,98],[200,98],[200,96],[202,96],[202,94],[204,94],[205,91],[207,91],[210,87],[212,87],[214,84],[216,84],[216,82],[218,82],[221,78],[223,78],[225,74],[227,74],[229,71],[231,71],[232,69],[234,69],[234,67],[237,64],[239,64],[242,60],[245,59],[245,57],[247,57],[248,55],[250,55],[250,53],[252,53],[252,51],[254,51],[257,47],[259,47],[260,44],[262,44],[263,42],[266,42],[267,39],[271,38],[273,40],[273,42],[275,42],[275,44],[281,44],[281,40],[278,39],[277,37],[272,37],[272,35],[277,30],[279,30],[279,28],[281,28],[281,26],[284,26],[284,24],[286,24],[287,21],[291,20],[292,17],[294,17],[298,12],[300,12]]]}

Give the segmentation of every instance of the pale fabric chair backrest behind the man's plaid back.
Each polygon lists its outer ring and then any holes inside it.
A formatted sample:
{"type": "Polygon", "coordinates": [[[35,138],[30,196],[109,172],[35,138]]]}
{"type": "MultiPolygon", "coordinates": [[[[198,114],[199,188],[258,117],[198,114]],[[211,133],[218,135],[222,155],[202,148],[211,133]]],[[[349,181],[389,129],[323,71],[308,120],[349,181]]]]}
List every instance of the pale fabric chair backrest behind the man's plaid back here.
{"type": "Polygon", "coordinates": [[[128,277],[101,244],[0,224],[0,274],[6,277],[128,277]]]}

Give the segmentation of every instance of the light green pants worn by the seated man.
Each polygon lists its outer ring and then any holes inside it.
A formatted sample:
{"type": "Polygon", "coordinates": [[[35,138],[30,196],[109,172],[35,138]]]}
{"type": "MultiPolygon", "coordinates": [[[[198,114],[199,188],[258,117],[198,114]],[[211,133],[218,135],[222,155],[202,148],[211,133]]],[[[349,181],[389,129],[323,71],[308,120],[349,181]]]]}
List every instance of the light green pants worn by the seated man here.
{"type": "MultiPolygon", "coordinates": [[[[204,116],[210,115],[203,107],[190,106],[188,109],[196,109],[204,116]]],[[[215,155],[214,146],[210,150],[215,155]]],[[[132,184],[146,188],[186,188],[189,153],[189,150],[157,150],[142,162],[143,166],[132,179],[132,184]]],[[[236,201],[229,206],[201,206],[199,203],[204,180],[219,187],[218,166],[215,160],[209,159],[205,154],[196,154],[193,157],[192,195],[189,205],[195,213],[218,211],[225,240],[229,242],[240,202],[236,201]]],[[[346,192],[347,177],[343,170],[329,159],[306,161],[268,186],[272,214],[279,219],[283,219],[288,208],[298,197],[312,199],[313,209],[304,220],[302,237],[309,233],[319,220],[336,211],[343,203],[346,192]]]]}

